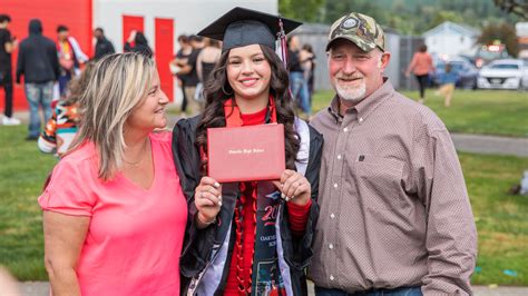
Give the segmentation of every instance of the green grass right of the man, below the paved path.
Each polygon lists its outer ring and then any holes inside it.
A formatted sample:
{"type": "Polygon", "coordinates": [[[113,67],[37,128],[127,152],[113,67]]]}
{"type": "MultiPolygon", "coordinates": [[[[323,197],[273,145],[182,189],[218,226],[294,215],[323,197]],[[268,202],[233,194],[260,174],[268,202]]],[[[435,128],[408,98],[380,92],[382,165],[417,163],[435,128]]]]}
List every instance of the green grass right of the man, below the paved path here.
{"type": "Polygon", "coordinates": [[[475,284],[528,286],[528,196],[509,195],[528,158],[460,152],[479,234],[475,284]],[[517,272],[517,277],[503,274],[517,272]]]}

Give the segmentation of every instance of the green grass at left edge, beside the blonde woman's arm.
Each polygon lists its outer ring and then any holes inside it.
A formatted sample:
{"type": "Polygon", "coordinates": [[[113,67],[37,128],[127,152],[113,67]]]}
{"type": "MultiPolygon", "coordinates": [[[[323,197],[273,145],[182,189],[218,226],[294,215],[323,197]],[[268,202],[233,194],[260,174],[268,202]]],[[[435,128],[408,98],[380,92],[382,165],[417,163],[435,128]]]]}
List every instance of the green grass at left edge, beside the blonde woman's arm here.
{"type": "Polygon", "coordinates": [[[19,279],[45,279],[37,197],[57,160],[26,136],[27,126],[0,126],[0,265],[19,279]]]}

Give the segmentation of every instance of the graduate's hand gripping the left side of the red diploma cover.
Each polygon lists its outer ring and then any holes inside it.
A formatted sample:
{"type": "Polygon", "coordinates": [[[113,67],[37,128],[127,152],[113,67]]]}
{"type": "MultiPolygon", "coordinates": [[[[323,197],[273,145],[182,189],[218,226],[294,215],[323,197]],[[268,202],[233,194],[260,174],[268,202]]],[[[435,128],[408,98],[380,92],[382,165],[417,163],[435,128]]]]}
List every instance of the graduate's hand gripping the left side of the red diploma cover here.
{"type": "Polygon", "coordinates": [[[194,204],[198,209],[198,228],[203,229],[213,224],[222,207],[222,185],[211,177],[203,177],[195,189],[194,204]]]}

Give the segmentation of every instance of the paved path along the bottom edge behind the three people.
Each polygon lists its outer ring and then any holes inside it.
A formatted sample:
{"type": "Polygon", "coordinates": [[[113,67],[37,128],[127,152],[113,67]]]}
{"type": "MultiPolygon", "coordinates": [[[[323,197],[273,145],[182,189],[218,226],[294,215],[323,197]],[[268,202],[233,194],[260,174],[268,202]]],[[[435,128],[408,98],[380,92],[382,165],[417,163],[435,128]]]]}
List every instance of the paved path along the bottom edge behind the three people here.
{"type": "MultiPolygon", "coordinates": [[[[310,283],[310,282],[309,282],[310,283]]],[[[528,287],[496,287],[475,286],[476,296],[526,296],[528,287]]],[[[27,282],[21,284],[22,296],[49,296],[49,287],[46,282],[27,282]]],[[[1,296],[4,296],[0,293],[1,296]]],[[[309,295],[313,296],[313,287],[309,286],[309,295]]]]}

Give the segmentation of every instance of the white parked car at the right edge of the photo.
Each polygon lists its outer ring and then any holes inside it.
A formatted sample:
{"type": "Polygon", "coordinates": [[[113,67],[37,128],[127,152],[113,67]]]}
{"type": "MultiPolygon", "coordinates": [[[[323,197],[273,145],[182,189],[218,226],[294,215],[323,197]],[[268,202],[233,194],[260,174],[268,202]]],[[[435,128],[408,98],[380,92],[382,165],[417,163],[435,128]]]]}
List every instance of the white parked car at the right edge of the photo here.
{"type": "Polygon", "coordinates": [[[477,80],[483,89],[528,89],[528,63],[524,60],[496,60],[485,66],[477,80]]]}

